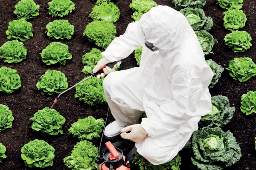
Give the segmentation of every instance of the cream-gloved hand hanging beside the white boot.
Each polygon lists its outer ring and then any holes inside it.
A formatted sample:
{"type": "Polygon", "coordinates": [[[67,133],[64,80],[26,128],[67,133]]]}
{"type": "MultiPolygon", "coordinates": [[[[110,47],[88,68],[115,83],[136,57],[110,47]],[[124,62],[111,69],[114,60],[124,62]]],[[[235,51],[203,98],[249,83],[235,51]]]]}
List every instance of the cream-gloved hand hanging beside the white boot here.
{"type": "Polygon", "coordinates": [[[148,133],[143,129],[141,124],[134,124],[128,127],[125,127],[121,130],[121,137],[128,139],[133,142],[141,141],[148,133]],[[131,131],[130,133],[126,133],[131,131]]]}

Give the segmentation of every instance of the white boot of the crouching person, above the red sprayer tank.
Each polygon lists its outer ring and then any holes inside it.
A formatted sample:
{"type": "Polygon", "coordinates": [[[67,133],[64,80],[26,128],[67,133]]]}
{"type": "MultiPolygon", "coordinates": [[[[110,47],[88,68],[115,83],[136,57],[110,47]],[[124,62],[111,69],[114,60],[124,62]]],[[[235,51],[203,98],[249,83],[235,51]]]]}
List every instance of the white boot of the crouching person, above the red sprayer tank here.
{"type": "Polygon", "coordinates": [[[105,127],[104,136],[107,139],[116,138],[121,134],[121,130],[124,127],[119,126],[116,121],[113,121],[111,124],[105,127]]]}

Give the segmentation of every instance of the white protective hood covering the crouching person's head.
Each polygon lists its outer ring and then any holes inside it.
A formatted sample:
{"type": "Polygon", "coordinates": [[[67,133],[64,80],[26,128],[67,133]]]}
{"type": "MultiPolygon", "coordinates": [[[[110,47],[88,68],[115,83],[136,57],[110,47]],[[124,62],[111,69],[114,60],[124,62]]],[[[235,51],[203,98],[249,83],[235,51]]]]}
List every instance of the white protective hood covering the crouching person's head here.
{"type": "Polygon", "coordinates": [[[167,52],[183,43],[193,31],[186,17],[169,6],[156,6],[140,18],[145,40],[167,52]]]}

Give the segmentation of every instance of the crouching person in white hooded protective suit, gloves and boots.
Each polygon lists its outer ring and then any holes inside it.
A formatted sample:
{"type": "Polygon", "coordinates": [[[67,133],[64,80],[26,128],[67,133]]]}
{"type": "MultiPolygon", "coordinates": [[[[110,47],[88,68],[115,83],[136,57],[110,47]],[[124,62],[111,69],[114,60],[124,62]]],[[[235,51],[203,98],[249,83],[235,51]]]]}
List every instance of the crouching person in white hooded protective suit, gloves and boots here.
{"type": "Polygon", "coordinates": [[[122,133],[122,138],[136,142],[141,156],[158,165],[171,161],[198,130],[201,116],[211,112],[208,86],[213,72],[186,18],[168,6],[153,7],[130,23],[125,34],[102,52],[93,72],[140,46],[140,67],[118,72],[106,67],[97,75],[110,73],[103,87],[116,119],[104,135],[113,138],[122,133]],[[136,124],[142,111],[147,118],[136,124]]]}

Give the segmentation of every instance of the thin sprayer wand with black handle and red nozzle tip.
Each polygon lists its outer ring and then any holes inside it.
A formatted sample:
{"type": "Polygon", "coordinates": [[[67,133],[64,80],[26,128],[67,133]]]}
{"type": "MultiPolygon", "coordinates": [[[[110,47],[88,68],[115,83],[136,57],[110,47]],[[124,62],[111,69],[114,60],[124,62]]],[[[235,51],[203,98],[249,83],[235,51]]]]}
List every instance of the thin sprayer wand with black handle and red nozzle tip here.
{"type": "MultiPolygon", "coordinates": [[[[61,94],[59,94],[58,97],[55,98],[54,103],[52,104],[52,107],[54,106],[55,103],[57,103],[58,98],[59,98],[63,93],[69,91],[70,89],[73,89],[75,86],[77,86],[77,85],[79,85],[80,83],[86,81],[88,78],[96,77],[97,75],[99,75],[99,74],[101,74],[101,73],[104,73],[103,69],[104,69],[105,67],[108,66],[109,68],[112,69],[115,65],[118,65],[118,66],[119,66],[119,65],[120,65],[121,63],[123,63],[123,62],[124,62],[123,60],[119,60],[119,61],[114,61],[113,63],[108,63],[108,64],[104,65],[102,68],[100,68],[100,69],[98,70],[98,72],[93,73],[91,76],[87,77],[86,79],[80,81],[78,84],[75,84],[74,86],[70,87],[69,89],[67,89],[67,90],[65,90],[64,92],[62,92],[61,94]]],[[[123,66],[124,66],[124,64],[122,64],[122,69],[123,69],[123,66]]],[[[121,70],[122,70],[122,69],[121,69],[121,70]]],[[[52,107],[51,107],[50,109],[52,109],[52,107]]]]}

